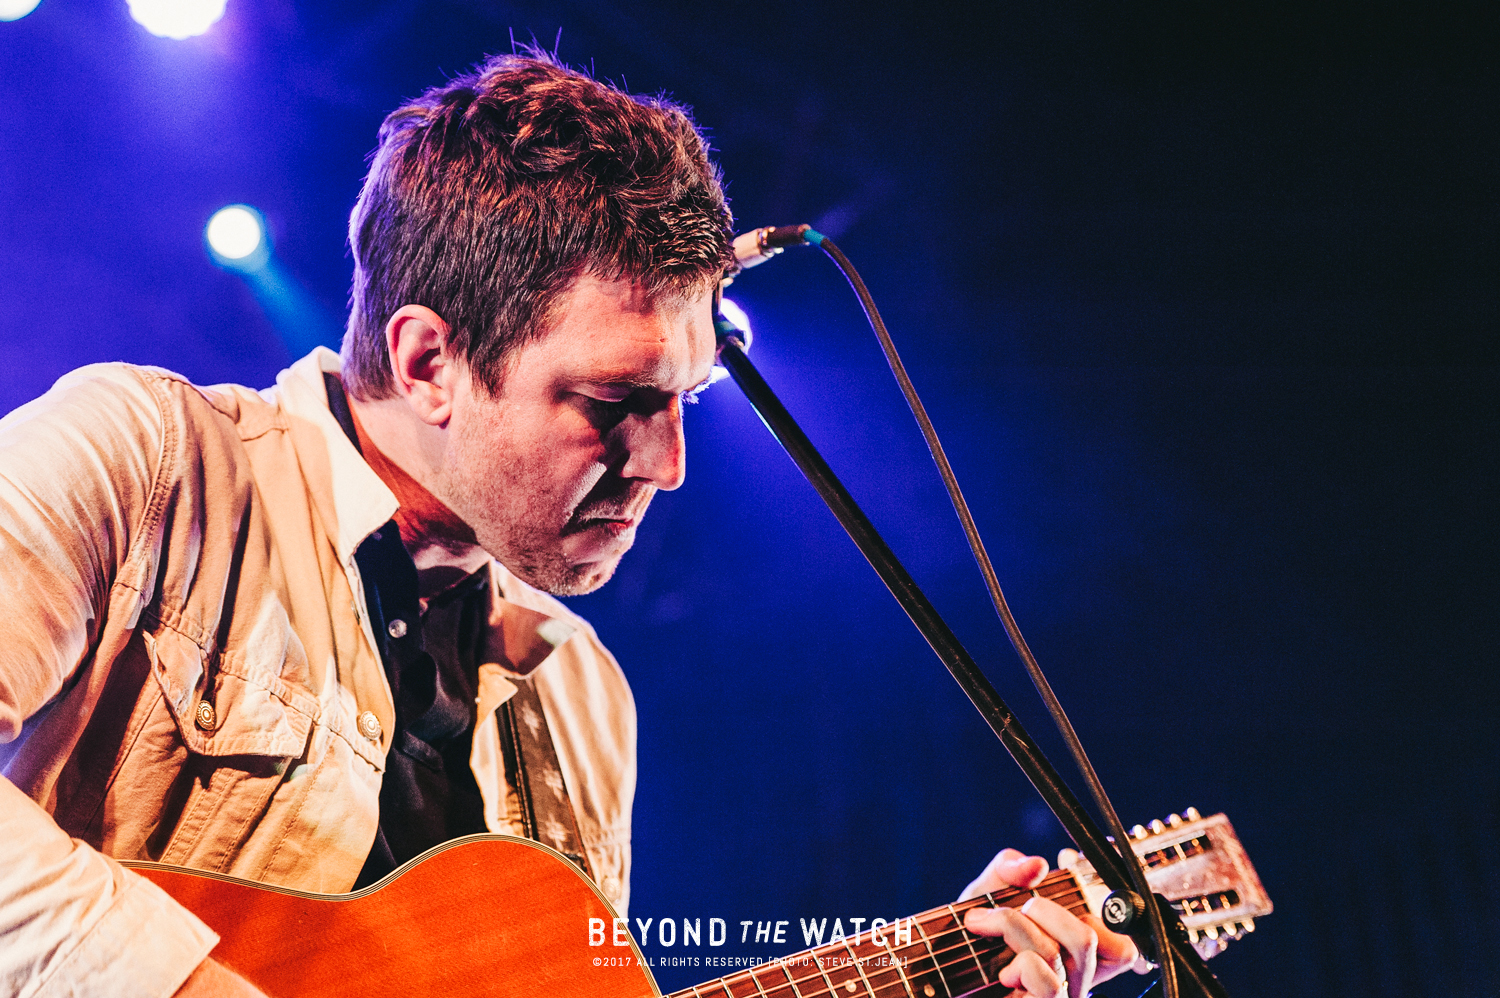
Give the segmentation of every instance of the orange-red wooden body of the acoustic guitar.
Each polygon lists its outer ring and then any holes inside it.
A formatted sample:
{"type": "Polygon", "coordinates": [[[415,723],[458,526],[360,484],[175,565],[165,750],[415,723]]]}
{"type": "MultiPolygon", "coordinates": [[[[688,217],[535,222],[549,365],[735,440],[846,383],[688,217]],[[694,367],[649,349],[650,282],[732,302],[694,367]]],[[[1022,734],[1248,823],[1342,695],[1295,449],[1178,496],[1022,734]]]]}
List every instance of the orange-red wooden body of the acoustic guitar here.
{"type": "Polygon", "coordinates": [[[612,944],[615,911],[603,894],[526,839],[454,839],[354,894],[124,866],[202,918],[222,939],[214,959],[273,998],[662,993],[634,942],[612,944]],[[590,945],[590,918],[602,920],[603,945],[590,945]]]}

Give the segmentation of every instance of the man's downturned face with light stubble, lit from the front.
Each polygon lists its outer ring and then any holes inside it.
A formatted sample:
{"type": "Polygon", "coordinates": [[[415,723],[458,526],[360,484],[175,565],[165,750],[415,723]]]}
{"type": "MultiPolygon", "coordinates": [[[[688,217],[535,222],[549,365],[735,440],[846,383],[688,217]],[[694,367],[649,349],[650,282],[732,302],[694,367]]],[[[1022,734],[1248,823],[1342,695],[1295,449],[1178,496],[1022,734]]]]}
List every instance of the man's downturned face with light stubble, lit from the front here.
{"type": "Polygon", "coordinates": [[[652,303],[584,276],[510,359],[500,395],[459,378],[435,492],[524,581],[598,588],[656,491],[682,483],[682,396],[714,362],[711,297],[705,284],[652,303]]]}

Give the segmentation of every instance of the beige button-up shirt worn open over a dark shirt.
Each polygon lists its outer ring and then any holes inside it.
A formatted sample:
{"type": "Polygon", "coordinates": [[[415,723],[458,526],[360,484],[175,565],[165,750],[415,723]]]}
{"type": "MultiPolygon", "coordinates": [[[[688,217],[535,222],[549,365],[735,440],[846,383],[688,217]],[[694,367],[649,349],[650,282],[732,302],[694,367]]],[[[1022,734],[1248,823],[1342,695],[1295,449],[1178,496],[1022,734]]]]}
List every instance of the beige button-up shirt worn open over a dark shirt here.
{"type": "MultiPolygon", "coordinates": [[[[206,926],[106,857],[309,891],[360,872],[394,707],[354,551],[396,498],[324,371],[318,350],[252,392],[100,365],[0,420],[0,992],[165,998],[208,953],[206,926]]],[[[519,833],[494,710],[530,669],[624,912],[630,689],[585,621],[492,579],[489,645],[513,660],[480,668],[486,824],[519,833]]]]}

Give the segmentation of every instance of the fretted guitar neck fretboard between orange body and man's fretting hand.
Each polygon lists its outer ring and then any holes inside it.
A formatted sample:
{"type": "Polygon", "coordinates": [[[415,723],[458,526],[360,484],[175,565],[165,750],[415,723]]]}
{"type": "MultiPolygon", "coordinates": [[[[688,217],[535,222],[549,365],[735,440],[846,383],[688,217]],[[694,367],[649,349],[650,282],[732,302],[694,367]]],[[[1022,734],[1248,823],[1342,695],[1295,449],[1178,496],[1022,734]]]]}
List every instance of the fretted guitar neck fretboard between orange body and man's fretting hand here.
{"type": "Polygon", "coordinates": [[[1076,914],[1088,908],[1072,873],[1056,870],[1034,890],[1012,888],[933,908],[669,998],[956,998],[994,983],[1011,957],[1004,939],[968,932],[963,912],[982,905],[1018,908],[1034,894],[1076,914]]]}

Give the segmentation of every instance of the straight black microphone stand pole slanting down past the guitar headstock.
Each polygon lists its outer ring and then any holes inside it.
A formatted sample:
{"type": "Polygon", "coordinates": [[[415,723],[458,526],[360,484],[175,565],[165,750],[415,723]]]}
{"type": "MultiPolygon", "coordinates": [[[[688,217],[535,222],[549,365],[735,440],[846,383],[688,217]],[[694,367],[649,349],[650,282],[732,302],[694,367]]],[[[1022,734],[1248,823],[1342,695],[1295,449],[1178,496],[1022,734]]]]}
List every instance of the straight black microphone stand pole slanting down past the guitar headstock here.
{"type": "MultiPolygon", "coordinates": [[[[728,329],[732,330],[734,327],[728,329]]],[[[942,663],[948,666],[948,671],[957,680],[969,701],[974,702],[980,716],[990,725],[994,737],[1000,740],[1000,744],[1011,753],[1016,764],[1022,767],[1022,771],[1026,773],[1026,777],[1036,788],[1036,792],[1041,794],[1041,798],[1052,807],[1052,812],[1072,837],[1078,851],[1094,864],[1100,879],[1110,890],[1131,891],[1130,876],[1114,846],[1110,845],[1110,840],[1083,809],[1078,798],[1072,795],[1068,785],[1062,782],[1062,777],[1058,776],[1058,771],[1047,761],[1047,756],[1042,755],[1036,743],[1032,741],[1026,729],[1022,728],[1020,720],[1016,719],[1011,708],[1000,699],[1000,695],[990,684],[990,680],[986,678],[984,672],[980,671],[974,657],[958,642],[957,635],[952,633],[946,621],[938,614],[932,600],[927,599],[927,594],[921,591],[916,581],[912,579],[906,567],[897,560],[896,552],[891,551],[885,539],[874,530],[870,518],[854,501],[849,489],[844,488],[832,468],[828,467],[828,462],[813,447],[813,441],[807,438],[807,434],[796,425],[792,414],[786,411],[786,407],[782,405],[771,386],[766,384],[760,372],[750,363],[740,338],[720,327],[718,347],[718,362],[729,369],[735,384],[750,399],[750,405],[754,407],[760,420],[771,431],[771,435],[786,449],[788,456],[796,462],[796,467],[802,470],[807,480],[818,489],[824,503],[832,510],[832,515],[843,525],[844,531],[848,531],[855,546],[860,548],[870,567],[874,569],[880,581],[891,590],[896,602],[912,618],[916,630],[927,639],[932,650],[938,653],[942,663]]],[[[1126,843],[1125,848],[1130,848],[1130,845],[1126,843]]],[[[1168,926],[1168,944],[1172,945],[1174,963],[1179,971],[1179,986],[1186,984],[1190,989],[1184,993],[1198,993],[1203,998],[1228,998],[1224,986],[1209,971],[1208,963],[1188,944],[1186,930],[1182,929],[1178,912],[1166,899],[1156,896],[1155,900],[1161,909],[1161,917],[1168,926]]],[[[1146,920],[1137,918],[1136,923],[1144,924],[1146,920]]],[[[1149,951],[1149,933],[1146,939],[1137,936],[1137,945],[1142,945],[1143,951],[1149,951]]]]}

